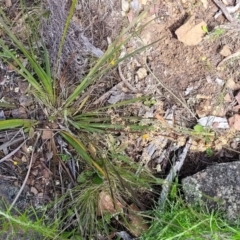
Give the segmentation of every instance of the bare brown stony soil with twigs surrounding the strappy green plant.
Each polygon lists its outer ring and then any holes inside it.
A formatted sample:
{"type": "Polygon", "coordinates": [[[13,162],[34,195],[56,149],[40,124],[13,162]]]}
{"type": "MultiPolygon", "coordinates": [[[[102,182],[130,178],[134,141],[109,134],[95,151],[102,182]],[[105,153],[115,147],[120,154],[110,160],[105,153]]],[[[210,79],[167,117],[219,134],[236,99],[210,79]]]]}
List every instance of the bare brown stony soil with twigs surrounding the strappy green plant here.
{"type": "MultiPolygon", "coordinates": [[[[5,5],[6,13],[18,21],[16,32],[22,31],[17,1],[0,3],[5,5]]],[[[98,1],[97,5],[89,3],[84,8],[88,11],[83,12],[79,4],[73,21],[86,28],[85,34],[91,35],[91,44],[97,50],[105,51],[121,29],[136,18],[139,23],[124,36],[133,35],[121,49],[120,56],[150,44],[141,53],[120,63],[116,71],[93,86],[91,93],[95,106],[149,96],[148,100],[124,111],[126,115],[143,117],[143,124],[157,120],[156,130],[142,136],[122,132],[115,137],[120,143],[128,143],[125,148],[128,156],[156,176],[167,176],[171,166],[178,162],[186,142],[191,146],[183,166],[178,169],[180,178],[212,165],[209,171],[214,172],[217,163],[226,162],[224,166],[230,167],[227,162],[238,160],[239,5],[239,1],[232,0],[109,0],[108,3],[98,1]]],[[[31,96],[26,95],[28,85],[5,64],[0,69],[0,87],[0,118],[28,118],[35,111],[31,96]]],[[[41,117],[41,112],[34,113],[41,117]]],[[[47,134],[42,136],[43,141],[49,139],[47,134]]],[[[19,144],[23,134],[1,133],[1,158],[11,152],[12,144],[6,142],[13,138],[19,144]]],[[[48,146],[43,144],[42,147],[48,146]]],[[[47,157],[52,157],[50,152],[47,157]]],[[[13,191],[21,186],[28,158],[29,151],[23,145],[21,152],[0,164],[0,178],[4,184],[11,183],[13,191]]],[[[35,205],[52,199],[56,187],[47,162],[46,158],[34,160],[26,184],[26,191],[35,205]]],[[[236,191],[239,193],[239,189],[236,191]]],[[[1,187],[0,192],[0,196],[11,202],[12,195],[1,187]]]]}

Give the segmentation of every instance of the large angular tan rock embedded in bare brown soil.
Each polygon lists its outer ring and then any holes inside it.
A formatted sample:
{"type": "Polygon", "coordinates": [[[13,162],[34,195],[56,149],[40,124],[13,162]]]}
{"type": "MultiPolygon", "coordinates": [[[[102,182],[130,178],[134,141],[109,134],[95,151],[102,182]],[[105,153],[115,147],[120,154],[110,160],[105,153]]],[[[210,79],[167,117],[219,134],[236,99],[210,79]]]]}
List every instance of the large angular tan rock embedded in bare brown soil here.
{"type": "Polygon", "coordinates": [[[185,45],[194,46],[199,44],[206,34],[204,28],[207,28],[207,24],[203,20],[196,20],[195,17],[191,17],[175,31],[175,34],[178,40],[185,45]]]}

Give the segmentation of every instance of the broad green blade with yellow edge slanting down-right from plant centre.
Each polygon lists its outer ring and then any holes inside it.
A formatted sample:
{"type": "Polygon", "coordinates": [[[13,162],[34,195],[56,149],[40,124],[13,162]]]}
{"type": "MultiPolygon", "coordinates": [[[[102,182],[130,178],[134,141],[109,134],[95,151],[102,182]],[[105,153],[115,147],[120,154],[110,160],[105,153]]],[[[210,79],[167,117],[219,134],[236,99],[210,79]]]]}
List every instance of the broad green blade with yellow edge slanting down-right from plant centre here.
{"type": "Polygon", "coordinates": [[[93,166],[104,178],[107,177],[105,171],[88,155],[86,148],[79,139],[66,131],[61,132],[61,135],[65,138],[65,140],[68,141],[69,144],[74,147],[83,160],[85,160],[89,165],[93,166]]]}

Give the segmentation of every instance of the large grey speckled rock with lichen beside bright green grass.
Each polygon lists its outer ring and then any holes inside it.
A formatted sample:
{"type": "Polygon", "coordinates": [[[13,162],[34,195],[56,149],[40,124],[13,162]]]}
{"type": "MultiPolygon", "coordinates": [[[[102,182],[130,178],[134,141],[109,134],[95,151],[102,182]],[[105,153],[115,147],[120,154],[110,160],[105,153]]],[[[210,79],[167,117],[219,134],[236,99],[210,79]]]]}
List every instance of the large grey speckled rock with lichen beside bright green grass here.
{"type": "Polygon", "coordinates": [[[213,165],[182,180],[190,204],[221,210],[227,219],[240,217],[240,162],[213,165]]]}

